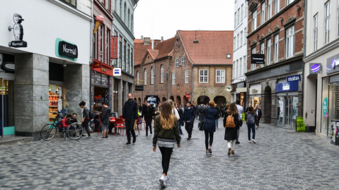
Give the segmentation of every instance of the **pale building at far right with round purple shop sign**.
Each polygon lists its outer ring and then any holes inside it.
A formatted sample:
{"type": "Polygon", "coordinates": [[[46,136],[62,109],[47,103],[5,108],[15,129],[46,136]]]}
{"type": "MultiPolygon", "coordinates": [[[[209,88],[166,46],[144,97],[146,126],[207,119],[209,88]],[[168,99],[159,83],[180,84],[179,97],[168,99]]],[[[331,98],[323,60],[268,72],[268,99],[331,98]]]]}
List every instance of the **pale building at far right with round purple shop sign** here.
{"type": "Polygon", "coordinates": [[[330,136],[331,120],[339,119],[339,1],[305,1],[303,118],[316,135],[330,136]]]}

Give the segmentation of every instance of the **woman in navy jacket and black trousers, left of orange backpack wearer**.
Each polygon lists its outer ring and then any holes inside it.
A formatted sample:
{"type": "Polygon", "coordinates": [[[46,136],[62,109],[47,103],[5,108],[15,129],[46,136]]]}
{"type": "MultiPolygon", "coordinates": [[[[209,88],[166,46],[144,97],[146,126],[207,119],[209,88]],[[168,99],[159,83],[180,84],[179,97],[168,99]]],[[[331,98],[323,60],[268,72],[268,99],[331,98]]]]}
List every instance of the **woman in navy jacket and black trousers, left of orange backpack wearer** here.
{"type": "Polygon", "coordinates": [[[219,118],[218,111],[216,108],[216,103],[211,100],[209,102],[210,106],[205,109],[204,119],[206,119],[205,123],[205,147],[206,154],[212,154],[212,143],[213,143],[213,135],[216,132],[216,119],[219,118]],[[208,141],[209,137],[209,141],[208,141]]]}

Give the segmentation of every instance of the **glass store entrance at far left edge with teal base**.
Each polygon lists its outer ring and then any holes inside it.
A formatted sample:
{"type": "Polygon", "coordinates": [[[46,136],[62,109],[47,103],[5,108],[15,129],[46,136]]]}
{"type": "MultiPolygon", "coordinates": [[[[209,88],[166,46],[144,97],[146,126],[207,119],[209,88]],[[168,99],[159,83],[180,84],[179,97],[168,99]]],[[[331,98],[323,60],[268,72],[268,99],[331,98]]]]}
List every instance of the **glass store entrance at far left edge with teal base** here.
{"type": "Polygon", "coordinates": [[[0,137],[14,136],[14,80],[0,79],[0,137]]]}

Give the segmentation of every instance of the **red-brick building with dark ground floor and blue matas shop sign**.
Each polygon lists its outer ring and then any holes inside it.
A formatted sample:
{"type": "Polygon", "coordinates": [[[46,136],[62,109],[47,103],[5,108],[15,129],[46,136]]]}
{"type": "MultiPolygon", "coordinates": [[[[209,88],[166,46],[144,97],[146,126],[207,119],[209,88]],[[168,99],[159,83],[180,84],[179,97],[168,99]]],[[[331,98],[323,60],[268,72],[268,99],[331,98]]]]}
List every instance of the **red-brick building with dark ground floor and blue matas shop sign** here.
{"type": "Polygon", "coordinates": [[[247,102],[264,123],[295,127],[302,116],[304,0],[247,0],[247,102]],[[264,54],[264,64],[251,64],[264,54]]]}

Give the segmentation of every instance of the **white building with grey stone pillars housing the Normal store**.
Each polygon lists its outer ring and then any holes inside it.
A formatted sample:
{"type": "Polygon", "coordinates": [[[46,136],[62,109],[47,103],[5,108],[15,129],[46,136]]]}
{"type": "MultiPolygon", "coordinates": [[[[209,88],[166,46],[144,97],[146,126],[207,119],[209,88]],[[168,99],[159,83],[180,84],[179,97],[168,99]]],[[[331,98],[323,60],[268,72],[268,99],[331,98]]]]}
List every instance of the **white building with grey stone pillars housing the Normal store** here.
{"type": "Polygon", "coordinates": [[[78,104],[90,94],[92,1],[11,0],[0,12],[0,137],[40,140],[62,108],[81,120],[78,104]]]}

